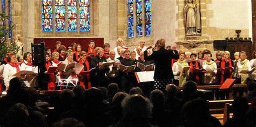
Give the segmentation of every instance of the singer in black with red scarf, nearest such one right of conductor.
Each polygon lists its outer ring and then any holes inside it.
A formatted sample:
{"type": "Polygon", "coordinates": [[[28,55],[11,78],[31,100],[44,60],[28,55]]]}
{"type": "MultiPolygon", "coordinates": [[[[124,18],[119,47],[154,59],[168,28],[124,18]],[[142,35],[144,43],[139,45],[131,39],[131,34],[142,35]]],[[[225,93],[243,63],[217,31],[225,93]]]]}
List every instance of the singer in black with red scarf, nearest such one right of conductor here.
{"type": "Polygon", "coordinates": [[[190,76],[189,79],[196,82],[197,85],[201,84],[201,73],[194,72],[194,68],[201,69],[200,63],[196,60],[197,54],[191,53],[190,55],[191,61],[188,62],[188,65],[190,66],[190,76]]]}

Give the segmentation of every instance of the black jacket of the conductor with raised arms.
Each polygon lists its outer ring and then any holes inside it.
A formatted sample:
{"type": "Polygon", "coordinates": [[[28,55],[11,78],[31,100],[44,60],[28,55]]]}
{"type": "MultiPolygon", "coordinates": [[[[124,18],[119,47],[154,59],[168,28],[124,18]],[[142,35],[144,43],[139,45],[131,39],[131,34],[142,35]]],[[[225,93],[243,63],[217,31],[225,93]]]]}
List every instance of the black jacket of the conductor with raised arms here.
{"type": "Polygon", "coordinates": [[[154,69],[154,79],[173,79],[171,61],[178,59],[178,51],[165,50],[161,47],[158,51],[154,51],[150,56],[147,56],[147,51],[144,51],[145,60],[154,60],[156,68],[154,69]]]}

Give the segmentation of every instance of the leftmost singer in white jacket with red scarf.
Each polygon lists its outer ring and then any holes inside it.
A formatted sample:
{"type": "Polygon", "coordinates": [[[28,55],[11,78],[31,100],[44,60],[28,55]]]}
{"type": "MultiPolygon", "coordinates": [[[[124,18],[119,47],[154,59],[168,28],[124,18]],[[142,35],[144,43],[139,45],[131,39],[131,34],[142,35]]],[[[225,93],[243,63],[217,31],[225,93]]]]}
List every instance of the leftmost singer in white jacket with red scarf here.
{"type": "Polygon", "coordinates": [[[9,82],[12,78],[14,78],[14,76],[12,75],[19,72],[19,70],[22,70],[22,68],[17,63],[16,54],[10,53],[7,57],[7,63],[4,66],[4,72],[3,72],[4,85],[6,87],[5,90],[8,90],[9,82]]]}

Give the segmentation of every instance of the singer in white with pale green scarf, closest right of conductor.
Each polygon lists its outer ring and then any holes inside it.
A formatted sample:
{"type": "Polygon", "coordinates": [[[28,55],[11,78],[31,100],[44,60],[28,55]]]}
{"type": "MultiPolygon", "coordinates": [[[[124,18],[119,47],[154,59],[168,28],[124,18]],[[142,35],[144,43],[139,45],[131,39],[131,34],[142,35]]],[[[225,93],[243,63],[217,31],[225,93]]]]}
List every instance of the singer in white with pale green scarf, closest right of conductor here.
{"type": "Polygon", "coordinates": [[[183,87],[183,84],[186,82],[186,78],[189,72],[188,71],[180,72],[180,70],[178,69],[179,66],[181,67],[188,66],[188,63],[186,62],[186,59],[185,59],[185,53],[180,53],[179,60],[177,62],[174,62],[172,66],[172,72],[174,75],[173,84],[175,84],[176,86],[183,87]]]}

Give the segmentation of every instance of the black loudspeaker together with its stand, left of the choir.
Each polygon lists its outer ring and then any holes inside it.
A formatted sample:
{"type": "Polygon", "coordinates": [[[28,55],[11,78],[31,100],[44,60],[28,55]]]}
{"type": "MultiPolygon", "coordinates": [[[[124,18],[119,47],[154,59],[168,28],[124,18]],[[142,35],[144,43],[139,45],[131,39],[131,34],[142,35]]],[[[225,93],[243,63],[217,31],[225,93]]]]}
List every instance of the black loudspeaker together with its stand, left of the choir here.
{"type": "Polygon", "coordinates": [[[44,77],[44,71],[42,70],[45,65],[45,44],[44,42],[41,43],[31,43],[31,49],[32,49],[32,63],[33,66],[38,67],[38,76],[37,76],[37,89],[41,90],[45,86],[43,85],[43,77],[44,77]]]}

